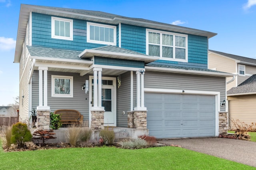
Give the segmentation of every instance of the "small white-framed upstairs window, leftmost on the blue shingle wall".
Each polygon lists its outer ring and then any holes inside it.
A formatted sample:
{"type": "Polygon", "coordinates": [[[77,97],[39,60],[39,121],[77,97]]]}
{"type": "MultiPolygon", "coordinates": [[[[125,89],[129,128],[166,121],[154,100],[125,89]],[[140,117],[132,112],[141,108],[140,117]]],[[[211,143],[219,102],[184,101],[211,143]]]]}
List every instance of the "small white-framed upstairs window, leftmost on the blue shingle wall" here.
{"type": "Polygon", "coordinates": [[[73,20],[52,16],[52,38],[73,41],[73,20]]]}

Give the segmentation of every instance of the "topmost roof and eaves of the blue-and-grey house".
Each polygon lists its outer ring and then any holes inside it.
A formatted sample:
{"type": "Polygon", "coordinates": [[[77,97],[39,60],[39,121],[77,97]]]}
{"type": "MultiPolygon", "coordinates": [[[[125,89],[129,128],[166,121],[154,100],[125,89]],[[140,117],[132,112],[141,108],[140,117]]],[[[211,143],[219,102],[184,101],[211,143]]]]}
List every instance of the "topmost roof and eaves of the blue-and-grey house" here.
{"type": "Polygon", "coordinates": [[[87,20],[92,22],[102,22],[102,23],[113,24],[113,25],[118,25],[119,23],[130,24],[134,26],[142,26],[145,28],[153,28],[157,30],[166,30],[170,32],[180,32],[183,34],[205,36],[207,38],[211,38],[217,35],[216,33],[213,33],[213,32],[198,30],[194,28],[176,26],[172,24],[166,24],[166,23],[146,20],[142,18],[124,17],[124,16],[109,14],[109,13],[100,12],[100,11],[76,10],[76,9],[69,9],[69,8],[56,8],[56,7],[49,7],[49,6],[21,4],[19,23],[18,23],[18,33],[17,33],[17,40],[16,40],[16,49],[15,49],[15,55],[14,55],[14,63],[18,63],[20,61],[20,57],[22,54],[22,44],[24,42],[24,38],[26,35],[26,26],[28,23],[30,12],[67,17],[67,18],[75,18],[75,19],[87,20]]]}

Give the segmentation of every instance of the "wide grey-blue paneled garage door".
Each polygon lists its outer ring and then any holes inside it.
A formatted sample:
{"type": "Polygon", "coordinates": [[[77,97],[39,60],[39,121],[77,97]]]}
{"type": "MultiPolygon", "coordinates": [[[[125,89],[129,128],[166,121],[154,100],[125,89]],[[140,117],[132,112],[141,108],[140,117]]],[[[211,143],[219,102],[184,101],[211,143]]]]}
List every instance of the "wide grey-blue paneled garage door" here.
{"type": "Polygon", "coordinates": [[[145,93],[145,107],[150,136],[215,136],[214,95],[145,93]]]}

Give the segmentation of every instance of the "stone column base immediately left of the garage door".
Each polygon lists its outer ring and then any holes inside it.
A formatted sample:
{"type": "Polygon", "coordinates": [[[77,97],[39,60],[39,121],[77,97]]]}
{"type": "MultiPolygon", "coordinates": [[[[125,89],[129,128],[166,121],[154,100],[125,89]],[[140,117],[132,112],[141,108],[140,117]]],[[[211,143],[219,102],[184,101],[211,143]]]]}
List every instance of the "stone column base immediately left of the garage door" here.
{"type": "Polygon", "coordinates": [[[147,128],[147,111],[134,111],[134,128],[147,128]]]}

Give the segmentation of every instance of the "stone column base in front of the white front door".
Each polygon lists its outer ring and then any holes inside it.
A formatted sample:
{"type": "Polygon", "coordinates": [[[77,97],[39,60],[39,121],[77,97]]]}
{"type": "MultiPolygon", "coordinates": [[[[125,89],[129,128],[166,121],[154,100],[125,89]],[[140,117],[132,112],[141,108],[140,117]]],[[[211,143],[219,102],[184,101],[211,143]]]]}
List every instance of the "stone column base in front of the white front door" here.
{"type": "Polygon", "coordinates": [[[91,111],[91,128],[92,130],[104,129],[105,111],[91,111]]]}

